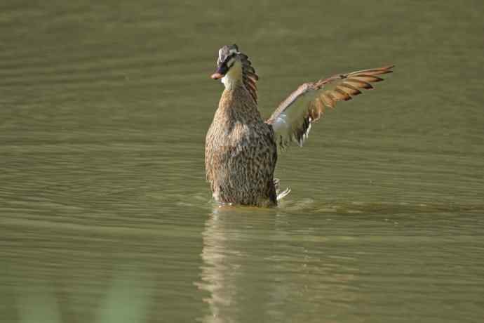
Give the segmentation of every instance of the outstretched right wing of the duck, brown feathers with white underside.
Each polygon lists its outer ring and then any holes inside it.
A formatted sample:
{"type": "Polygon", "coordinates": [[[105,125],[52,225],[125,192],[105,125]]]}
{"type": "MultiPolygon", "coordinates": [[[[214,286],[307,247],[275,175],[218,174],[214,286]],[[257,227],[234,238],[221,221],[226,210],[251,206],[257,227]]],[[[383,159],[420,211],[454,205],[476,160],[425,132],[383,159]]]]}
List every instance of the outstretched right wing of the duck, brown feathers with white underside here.
{"type": "Polygon", "coordinates": [[[302,84],[283,100],[266,121],[274,128],[278,147],[284,149],[291,141],[302,146],[311,124],[321,118],[326,107],[333,109],[337,101],[351,100],[353,96],[361,94],[361,90],[373,88],[370,83],[383,81],[377,75],[391,73],[393,67],[337,74],[302,84]]]}

